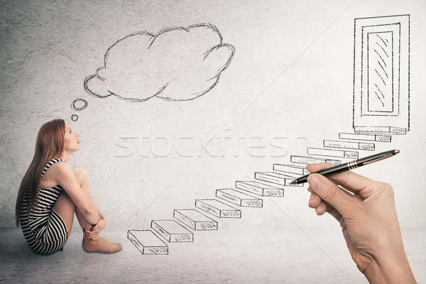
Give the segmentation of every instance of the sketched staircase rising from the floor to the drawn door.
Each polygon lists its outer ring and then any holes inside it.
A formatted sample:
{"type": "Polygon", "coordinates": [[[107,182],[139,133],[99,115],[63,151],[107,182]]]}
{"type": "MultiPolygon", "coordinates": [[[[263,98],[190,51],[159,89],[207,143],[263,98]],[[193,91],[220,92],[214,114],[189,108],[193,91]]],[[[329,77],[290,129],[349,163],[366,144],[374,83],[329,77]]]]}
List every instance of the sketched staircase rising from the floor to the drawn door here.
{"type": "Polygon", "coordinates": [[[288,164],[273,164],[271,172],[256,172],[254,180],[236,180],[234,188],[217,189],[215,199],[195,200],[195,208],[173,210],[173,219],[152,220],[151,228],[129,230],[127,237],[142,254],[168,254],[167,243],[193,242],[195,231],[217,230],[216,219],[241,219],[239,207],[263,207],[261,197],[284,197],[292,180],[308,174],[306,165],[328,162],[338,165],[371,155],[376,143],[390,143],[391,134],[339,133],[324,140],[322,148],[307,148],[307,155],[291,155],[288,164]],[[360,154],[361,153],[361,154],[360,154]]]}

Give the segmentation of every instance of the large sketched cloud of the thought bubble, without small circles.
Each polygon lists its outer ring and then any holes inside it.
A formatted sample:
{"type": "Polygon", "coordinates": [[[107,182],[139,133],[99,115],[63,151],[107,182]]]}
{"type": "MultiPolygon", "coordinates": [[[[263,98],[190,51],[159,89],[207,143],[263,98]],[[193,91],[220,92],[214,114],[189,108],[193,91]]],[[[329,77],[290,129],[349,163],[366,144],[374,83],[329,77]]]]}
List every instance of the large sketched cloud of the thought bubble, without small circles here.
{"type": "Polygon", "coordinates": [[[209,23],[132,33],[108,48],[104,66],[84,79],[84,89],[128,102],[195,99],[217,84],[234,53],[209,23]]]}

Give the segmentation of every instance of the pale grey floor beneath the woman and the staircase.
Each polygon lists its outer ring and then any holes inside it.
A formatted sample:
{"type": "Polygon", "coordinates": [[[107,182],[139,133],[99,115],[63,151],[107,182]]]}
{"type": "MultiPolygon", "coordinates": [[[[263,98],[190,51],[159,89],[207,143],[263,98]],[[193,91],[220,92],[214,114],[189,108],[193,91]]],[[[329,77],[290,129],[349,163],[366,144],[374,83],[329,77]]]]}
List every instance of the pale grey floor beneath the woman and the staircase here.
{"type": "MultiPolygon", "coordinates": [[[[403,229],[408,259],[418,283],[426,283],[426,229],[403,229]]],[[[339,228],[262,228],[239,233],[195,233],[193,243],[170,244],[166,256],[141,254],[127,231],[104,237],[121,242],[111,255],[82,251],[74,227],[64,251],[33,253],[20,228],[0,229],[1,283],[367,283],[349,256],[339,228]]]]}

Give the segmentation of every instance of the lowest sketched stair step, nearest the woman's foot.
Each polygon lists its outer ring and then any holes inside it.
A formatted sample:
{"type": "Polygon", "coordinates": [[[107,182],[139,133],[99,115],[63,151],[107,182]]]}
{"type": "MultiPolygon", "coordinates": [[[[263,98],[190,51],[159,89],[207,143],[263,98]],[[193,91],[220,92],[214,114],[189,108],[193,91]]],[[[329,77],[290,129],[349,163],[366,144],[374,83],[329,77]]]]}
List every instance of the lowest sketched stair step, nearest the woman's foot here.
{"type": "Polygon", "coordinates": [[[158,239],[151,230],[129,230],[127,239],[142,254],[168,254],[168,245],[158,239]]]}

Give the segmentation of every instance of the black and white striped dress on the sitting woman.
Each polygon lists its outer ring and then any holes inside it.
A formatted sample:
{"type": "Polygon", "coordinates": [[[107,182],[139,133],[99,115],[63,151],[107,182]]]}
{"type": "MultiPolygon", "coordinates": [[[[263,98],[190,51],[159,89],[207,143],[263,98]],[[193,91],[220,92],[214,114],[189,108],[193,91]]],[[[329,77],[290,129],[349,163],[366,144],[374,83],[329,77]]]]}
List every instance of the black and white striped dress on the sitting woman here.
{"type": "MultiPolygon", "coordinates": [[[[45,165],[40,179],[54,164],[63,161],[58,158],[50,160],[45,165]]],[[[62,187],[56,185],[51,188],[38,187],[38,203],[35,210],[28,216],[26,195],[21,203],[21,228],[28,245],[35,253],[51,254],[62,251],[67,241],[67,227],[62,217],[53,210],[53,205],[60,195],[62,187]]]]}

